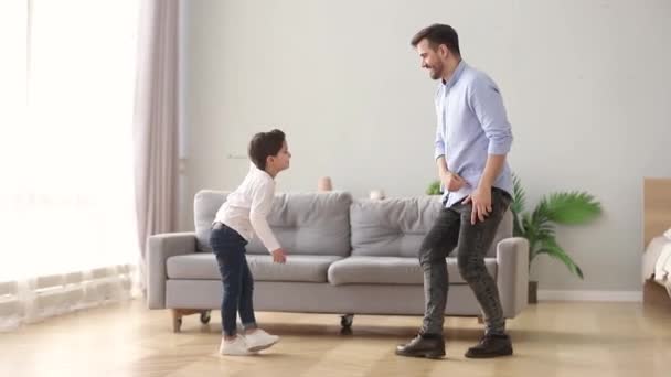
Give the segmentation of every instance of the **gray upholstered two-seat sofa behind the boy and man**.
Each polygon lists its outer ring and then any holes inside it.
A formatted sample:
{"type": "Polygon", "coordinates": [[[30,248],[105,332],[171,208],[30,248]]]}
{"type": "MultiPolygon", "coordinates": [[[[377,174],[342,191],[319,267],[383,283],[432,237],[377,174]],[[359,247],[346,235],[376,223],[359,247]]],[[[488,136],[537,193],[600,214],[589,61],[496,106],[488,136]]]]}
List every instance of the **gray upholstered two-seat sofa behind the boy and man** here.
{"type": "MultiPolygon", "coordinates": [[[[210,310],[221,305],[222,283],[209,236],[225,197],[224,192],[199,192],[195,233],[148,239],[148,306],[172,309],[175,332],[183,315],[200,313],[206,323],[210,310]]],[[[255,310],[342,314],[345,328],[353,314],[423,314],[417,252],[439,209],[437,196],[369,201],[345,192],[276,195],[268,223],[288,258],[285,265],[273,263],[258,239],[247,245],[255,310]]],[[[486,259],[507,317],[526,305],[529,279],[528,243],[511,234],[509,212],[486,259]]],[[[447,258],[447,266],[451,286],[445,314],[480,316],[456,259],[447,258]]]]}

